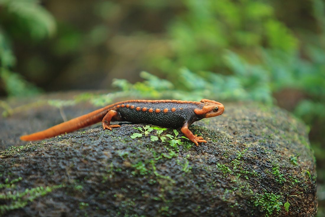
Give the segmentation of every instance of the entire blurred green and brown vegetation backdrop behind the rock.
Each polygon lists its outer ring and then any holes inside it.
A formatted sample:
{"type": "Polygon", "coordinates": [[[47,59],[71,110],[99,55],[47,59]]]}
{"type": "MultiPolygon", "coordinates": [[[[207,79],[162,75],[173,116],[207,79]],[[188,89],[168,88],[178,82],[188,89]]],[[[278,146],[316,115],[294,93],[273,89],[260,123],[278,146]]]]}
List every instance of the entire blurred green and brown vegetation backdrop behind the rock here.
{"type": "Polygon", "coordinates": [[[310,126],[318,216],[325,215],[324,63],[322,0],[0,0],[0,95],[110,89],[119,78],[110,97],[86,98],[277,104],[310,126]]]}

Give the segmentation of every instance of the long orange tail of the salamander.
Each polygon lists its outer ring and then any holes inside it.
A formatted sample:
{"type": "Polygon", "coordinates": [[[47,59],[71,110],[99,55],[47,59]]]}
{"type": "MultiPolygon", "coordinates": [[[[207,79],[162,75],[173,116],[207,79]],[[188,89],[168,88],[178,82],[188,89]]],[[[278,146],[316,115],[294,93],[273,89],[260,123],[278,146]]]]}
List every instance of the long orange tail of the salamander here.
{"type": "Polygon", "coordinates": [[[21,136],[20,139],[24,141],[41,140],[54,137],[63,133],[72,132],[74,130],[81,129],[92,124],[96,124],[103,119],[103,117],[111,108],[112,107],[110,105],[106,106],[86,115],[82,115],[80,117],[73,118],[67,122],[55,125],[49,129],[21,136]]]}

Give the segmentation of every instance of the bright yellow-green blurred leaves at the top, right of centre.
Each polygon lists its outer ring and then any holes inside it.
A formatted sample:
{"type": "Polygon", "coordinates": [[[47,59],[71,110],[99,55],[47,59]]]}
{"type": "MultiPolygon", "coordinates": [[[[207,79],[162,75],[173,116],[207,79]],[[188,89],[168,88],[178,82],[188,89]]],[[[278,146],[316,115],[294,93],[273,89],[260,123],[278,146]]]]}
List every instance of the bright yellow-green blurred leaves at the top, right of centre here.
{"type": "Polygon", "coordinates": [[[154,55],[153,64],[166,73],[186,66],[191,71],[222,70],[225,49],[258,55],[261,47],[294,52],[298,40],[263,1],[183,0],[186,12],[168,28],[170,52],[154,55]]]}

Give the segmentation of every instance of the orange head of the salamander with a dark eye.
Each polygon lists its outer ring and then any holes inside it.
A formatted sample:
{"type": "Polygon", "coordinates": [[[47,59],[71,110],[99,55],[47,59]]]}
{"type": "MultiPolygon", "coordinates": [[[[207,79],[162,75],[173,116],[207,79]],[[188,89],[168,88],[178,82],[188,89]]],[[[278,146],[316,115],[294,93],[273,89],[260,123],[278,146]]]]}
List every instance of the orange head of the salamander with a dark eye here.
{"type": "Polygon", "coordinates": [[[197,115],[204,115],[205,118],[214,117],[221,115],[225,111],[225,106],[214,100],[202,99],[201,102],[204,103],[202,109],[194,109],[197,115]]]}

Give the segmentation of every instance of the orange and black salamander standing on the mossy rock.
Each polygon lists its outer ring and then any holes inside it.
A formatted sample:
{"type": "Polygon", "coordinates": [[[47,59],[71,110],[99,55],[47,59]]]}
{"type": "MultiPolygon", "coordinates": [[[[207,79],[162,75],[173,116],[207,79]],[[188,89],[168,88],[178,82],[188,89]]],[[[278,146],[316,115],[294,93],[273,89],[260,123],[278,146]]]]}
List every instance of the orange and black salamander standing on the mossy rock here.
{"type": "Polygon", "coordinates": [[[129,100],[117,102],[55,125],[30,135],[21,136],[24,141],[42,140],[72,132],[92,124],[102,122],[103,129],[121,127],[111,125],[111,121],[154,124],[162,127],[179,128],[196,145],[206,142],[201,136],[194,135],[188,127],[202,118],[214,117],[224,112],[224,105],[214,100],[202,99],[201,102],[181,100],[129,100]]]}

